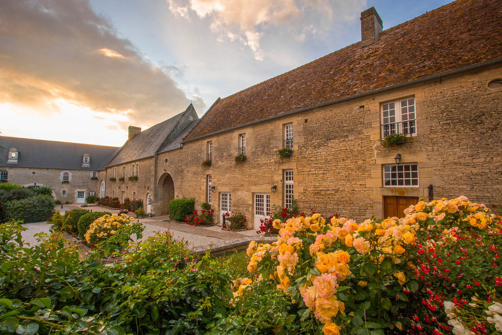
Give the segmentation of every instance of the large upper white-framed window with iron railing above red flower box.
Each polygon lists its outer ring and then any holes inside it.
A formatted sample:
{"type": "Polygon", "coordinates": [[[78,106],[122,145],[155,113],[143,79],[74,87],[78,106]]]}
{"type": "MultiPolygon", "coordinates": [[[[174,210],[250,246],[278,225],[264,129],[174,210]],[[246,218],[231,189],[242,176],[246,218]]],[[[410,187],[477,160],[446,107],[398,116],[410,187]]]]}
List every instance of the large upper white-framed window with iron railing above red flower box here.
{"type": "Polygon", "coordinates": [[[382,138],[391,134],[417,135],[415,97],[382,104],[382,138]]]}

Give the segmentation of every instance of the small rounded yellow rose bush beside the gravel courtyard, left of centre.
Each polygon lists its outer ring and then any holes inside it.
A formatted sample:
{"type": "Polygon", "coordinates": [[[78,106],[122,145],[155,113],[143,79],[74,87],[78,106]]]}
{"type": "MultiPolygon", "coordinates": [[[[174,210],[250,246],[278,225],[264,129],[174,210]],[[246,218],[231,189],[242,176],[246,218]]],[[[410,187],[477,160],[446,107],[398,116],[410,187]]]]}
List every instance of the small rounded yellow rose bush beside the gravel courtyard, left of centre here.
{"type": "Polygon", "coordinates": [[[123,250],[128,242],[132,241],[131,235],[136,234],[137,238],[141,238],[142,231],[142,225],[140,222],[135,222],[134,217],[113,213],[95,219],[84,237],[91,248],[102,242],[108,242],[123,250]]]}

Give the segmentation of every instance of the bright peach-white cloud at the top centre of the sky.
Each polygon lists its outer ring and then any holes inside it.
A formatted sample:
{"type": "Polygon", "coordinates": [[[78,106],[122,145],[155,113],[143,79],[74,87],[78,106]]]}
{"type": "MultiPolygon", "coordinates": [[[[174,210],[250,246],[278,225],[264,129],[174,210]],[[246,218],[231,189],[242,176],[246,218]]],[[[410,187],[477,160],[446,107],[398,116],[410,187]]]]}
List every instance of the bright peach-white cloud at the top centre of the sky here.
{"type": "Polygon", "coordinates": [[[166,0],[177,17],[190,20],[210,18],[217,40],[239,41],[248,46],[257,60],[269,55],[261,47],[268,31],[286,28],[293,38],[303,41],[326,27],[358,18],[366,0],[166,0]]]}

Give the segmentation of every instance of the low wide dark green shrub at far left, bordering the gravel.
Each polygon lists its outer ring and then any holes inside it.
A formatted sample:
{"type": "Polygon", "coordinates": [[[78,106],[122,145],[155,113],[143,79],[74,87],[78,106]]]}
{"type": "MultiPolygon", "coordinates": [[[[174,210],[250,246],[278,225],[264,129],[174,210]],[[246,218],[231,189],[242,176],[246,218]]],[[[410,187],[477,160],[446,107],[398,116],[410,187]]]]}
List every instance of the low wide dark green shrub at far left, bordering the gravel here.
{"type": "Polygon", "coordinates": [[[32,196],[7,203],[7,218],[28,222],[46,221],[52,216],[54,203],[44,196],[32,196]]]}

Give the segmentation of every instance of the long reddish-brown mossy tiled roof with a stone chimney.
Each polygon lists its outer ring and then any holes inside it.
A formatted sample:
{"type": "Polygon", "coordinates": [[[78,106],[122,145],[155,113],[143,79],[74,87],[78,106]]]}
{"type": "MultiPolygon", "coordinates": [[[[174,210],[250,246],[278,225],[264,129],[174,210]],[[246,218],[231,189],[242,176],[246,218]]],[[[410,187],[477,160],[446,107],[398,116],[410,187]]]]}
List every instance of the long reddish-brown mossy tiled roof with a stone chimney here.
{"type": "Polygon", "coordinates": [[[458,0],[223,98],[185,141],[500,58],[502,1],[458,0]]]}

